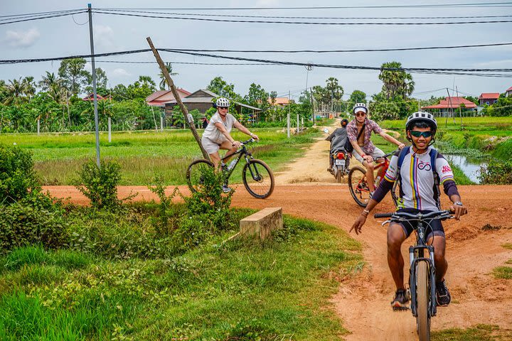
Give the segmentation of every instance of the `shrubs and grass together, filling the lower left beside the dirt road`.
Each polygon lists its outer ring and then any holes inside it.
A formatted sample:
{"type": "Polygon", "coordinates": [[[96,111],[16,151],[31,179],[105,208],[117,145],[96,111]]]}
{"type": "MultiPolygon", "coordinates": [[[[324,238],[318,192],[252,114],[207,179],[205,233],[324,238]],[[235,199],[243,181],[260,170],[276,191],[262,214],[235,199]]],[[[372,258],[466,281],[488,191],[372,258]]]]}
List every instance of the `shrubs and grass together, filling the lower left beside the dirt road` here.
{"type": "Polygon", "coordinates": [[[101,200],[75,207],[41,193],[26,151],[1,153],[1,340],[338,340],[346,333],[326,308],[339,278],[361,268],[361,246],[342,230],[285,216],[272,239],[226,242],[253,211],[230,208],[221,174],[205,173],[203,190],[182,203],[156,178],[158,203],[126,205],[112,193],[116,163],[104,163],[103,173],[86,164],[76,185],[101,200]],[[102,177],[106,188],[97,186],[102,177]]]}

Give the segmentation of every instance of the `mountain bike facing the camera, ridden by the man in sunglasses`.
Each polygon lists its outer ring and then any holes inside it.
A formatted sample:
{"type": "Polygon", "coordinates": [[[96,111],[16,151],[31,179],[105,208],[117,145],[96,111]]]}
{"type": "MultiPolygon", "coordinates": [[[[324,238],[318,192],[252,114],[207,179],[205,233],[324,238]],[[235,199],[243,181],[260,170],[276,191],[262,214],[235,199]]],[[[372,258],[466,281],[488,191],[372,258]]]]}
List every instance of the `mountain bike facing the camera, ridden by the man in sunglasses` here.
{"type": "Polygon", "coordinates": [[[446,220],[453,218],[449,210],[434,211],[422,214],[408,212],[381,213],[374,215],[375,218],[388,217],[390,220],[383,222],[409,222],[417,220],[416,244],[409,247],[409,299],[410,310],[416,318],[416,331],[420,341],[430,340],[430,318],[436,315],[436,288],[435,288],[435,265],[434,247],[427,245],[427,229],[432,220],[446,220]]]}

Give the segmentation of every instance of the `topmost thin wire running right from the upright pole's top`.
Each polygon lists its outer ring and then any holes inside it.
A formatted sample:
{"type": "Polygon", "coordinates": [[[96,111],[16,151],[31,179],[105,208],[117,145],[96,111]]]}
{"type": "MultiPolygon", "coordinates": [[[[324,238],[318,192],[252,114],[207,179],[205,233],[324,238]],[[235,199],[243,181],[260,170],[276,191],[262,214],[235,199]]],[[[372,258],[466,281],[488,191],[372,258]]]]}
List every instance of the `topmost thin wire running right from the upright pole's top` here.
{"type": "MultiPolygon", "coordinates": [[[[410,8],[437,8],[437,7],[508,7],[512,2],[479,2],[474,4],[417,4],[417,5],[375,5],[375,6],[310,6],[310,7],[202,7],[202,8],[138,8],[136,10],[170,10],[170,11],[239,11],[239,10],[288,10],[288,9],[410,9],[410,8]]],[[[112,10],[130,8],[108,8],[112,10]]],[[[134,9],[134,8],[132,8],[134,9]]],[[[102,9],[106,10],[106,9],[102,9]]]]}

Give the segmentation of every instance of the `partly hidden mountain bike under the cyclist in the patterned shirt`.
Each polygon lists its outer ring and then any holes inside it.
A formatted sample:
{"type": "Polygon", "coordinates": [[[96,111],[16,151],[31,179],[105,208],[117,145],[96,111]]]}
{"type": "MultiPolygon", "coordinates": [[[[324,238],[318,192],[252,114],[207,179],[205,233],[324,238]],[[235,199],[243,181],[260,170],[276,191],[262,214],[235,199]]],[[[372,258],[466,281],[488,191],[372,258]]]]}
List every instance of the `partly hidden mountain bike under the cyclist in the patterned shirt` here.
{"type": "MultiPolygon", "coordinates": [[[[389,156],[392,156],[396,151],[392,151],[385,156],[377,158],[374,162],[376,163],[375,171],[377,171],[377,176],[375,176],[375,188],[378,188],[380,180],[384,178],[385,172],[388,171],[389,167],[389,156]]],[[[398,186],[397,186],[398,187],[398,186]]],[[[356,200],[357,204],[361,207],[366,207],[368,202],[370,201],[370,189],[368,188],[368,182],[366,181],[366,168],[364,167],[352,167],[348,172],[348,189],[353,197],[353,200],[356,200]]],[[[393,188],[391,191],[391,197],[393,198],[393,203],[395,203],[395,207],[398,206],[398,193],[397,189],[393,188]]]]}

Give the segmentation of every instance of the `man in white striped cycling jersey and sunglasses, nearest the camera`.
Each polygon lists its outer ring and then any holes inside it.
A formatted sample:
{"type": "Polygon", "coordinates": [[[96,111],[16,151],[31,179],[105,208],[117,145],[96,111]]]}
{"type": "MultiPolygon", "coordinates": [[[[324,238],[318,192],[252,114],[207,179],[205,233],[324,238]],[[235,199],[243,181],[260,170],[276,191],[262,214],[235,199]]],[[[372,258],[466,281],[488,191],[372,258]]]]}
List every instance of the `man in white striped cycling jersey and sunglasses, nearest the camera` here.
{"type": "MultiPolygon", "coordinates": [[[[437,184],[444,187],[453,205],[450,207],[454,217],[459,220],[467,213],[466,207],[461,202],[461,197],[454,182],[452,168],[446,159],[432,148],[434,136],[437,131],[437,122],[427,112],[415,112],[408,119],[405,125],[407,139],[412,146],[404,151],[399,151],[391,158],[390,166],[385,177],[375,193],[368,202],[365,210],[353,223],[350,231],[355,230],[356,234],[361,233],[366,217],[388,193],[396,180],[400,183],[400,200],[398,211],[403,212],[432,212],[440,210],[439,188],[437,184]],[[433,157],[435,156],[435,157],[433,157]],[[402,164],[399,159],[402,158],[402,164]],[[434,161],[435,165],[432,165],[434,161]],[[432,170],[434,166],[435,172],[432,170]],[[400,172],[398,173],[398,169],[400,172]],[[436,178],[438,177],[438,178],[436,178]]],[[[390,222],[388,227],[388,265],[396,285],[395,298],[391,302],[394,310],[407,306],[408,298],[404,286],[404,260],[400,247],[402,242],[410,236],[417,222],[390,222]]],[[[446,306],[451,301],[448,288],[444,281],[447,272],[447,261],[444,259],[446,237],[444,229],[439,220],[432,220],[427,229],[427,244],[434,246],[434,263],[436,269],[436,296],[437,305],[446,306]]]]}

